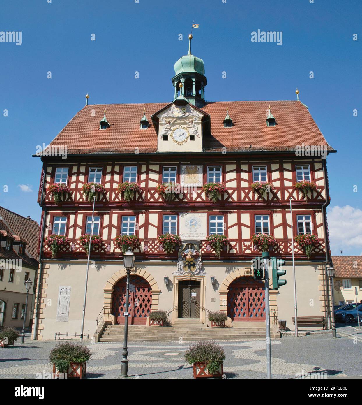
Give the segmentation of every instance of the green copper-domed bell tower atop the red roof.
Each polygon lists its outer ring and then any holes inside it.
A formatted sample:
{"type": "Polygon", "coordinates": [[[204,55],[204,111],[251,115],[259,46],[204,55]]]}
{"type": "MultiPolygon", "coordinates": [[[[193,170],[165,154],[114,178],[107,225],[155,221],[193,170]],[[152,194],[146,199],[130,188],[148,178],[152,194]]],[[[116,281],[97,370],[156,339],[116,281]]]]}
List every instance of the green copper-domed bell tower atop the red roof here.
{"type": "Polygon", "coordinates": [[[185,98],[190,104],[202,108],[205,105],[205,86],[207,79],[204,61],[191,53],[192,34],[189,35],[189,52],[175,63],[175,76],[172,84],[175,87],[175,97],[185,98]],[[181,84],[181,86],[180,86],[181,84]]]}

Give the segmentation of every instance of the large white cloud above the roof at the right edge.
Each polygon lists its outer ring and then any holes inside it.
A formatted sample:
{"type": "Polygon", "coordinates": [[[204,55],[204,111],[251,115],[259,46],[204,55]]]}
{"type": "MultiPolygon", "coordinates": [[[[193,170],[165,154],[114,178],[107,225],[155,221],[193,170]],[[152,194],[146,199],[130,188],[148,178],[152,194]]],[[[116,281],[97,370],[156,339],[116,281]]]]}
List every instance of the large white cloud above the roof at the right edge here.
{"type": "Polygon", "coordinates": [[[327,211],[332,255],[360,255],[362,252],[362,210],[336,205],[327,211]]]}

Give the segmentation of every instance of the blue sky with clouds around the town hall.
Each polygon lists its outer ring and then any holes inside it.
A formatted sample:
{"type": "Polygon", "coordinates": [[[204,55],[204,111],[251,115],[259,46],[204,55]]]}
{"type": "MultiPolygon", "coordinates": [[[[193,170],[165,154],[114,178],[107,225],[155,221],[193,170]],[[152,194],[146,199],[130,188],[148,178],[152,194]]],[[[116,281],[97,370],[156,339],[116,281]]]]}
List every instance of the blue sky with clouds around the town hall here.
{"type": "Polygon", "coordinates": [[[171,101],[173,65],[187,52],[194,20],[207,100],[292,100],[298,87],[338,151],[327,160],[332,254],[360,255],[361,15],[359,0],[2,2],[0,31],[21,31],[22,44],[0,43],[0,205],[39,220],[41,164],[31,155],[84,106],[87,92],[90,104],[171,101]],[[258,29],[282,31],[283,45],[252,43],[258,29]]]}

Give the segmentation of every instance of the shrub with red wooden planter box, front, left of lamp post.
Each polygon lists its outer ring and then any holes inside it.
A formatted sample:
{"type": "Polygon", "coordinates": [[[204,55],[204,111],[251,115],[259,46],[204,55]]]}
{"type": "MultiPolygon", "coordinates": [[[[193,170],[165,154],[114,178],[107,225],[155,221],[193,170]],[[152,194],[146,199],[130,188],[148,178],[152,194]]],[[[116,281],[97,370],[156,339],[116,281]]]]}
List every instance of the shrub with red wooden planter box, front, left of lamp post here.
{"type": "Polygon", "coordinates": [[[62,342],[49,352],[49,360],[54,364],[55,372],[68,373],[68,377],[82,378],[85,375],[85,363],[90,357],[88,347],[79,342],[62,342]]]}

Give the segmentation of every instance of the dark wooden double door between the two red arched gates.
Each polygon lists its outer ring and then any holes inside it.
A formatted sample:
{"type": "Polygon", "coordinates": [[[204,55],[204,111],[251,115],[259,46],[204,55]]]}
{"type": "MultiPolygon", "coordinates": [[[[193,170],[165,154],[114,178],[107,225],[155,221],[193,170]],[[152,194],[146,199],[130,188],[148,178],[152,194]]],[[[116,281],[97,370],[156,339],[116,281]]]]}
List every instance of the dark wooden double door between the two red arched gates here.
{"type": "Polygon", "coordinates": [[[179,318],[200,318],[200,281],[179,281],[179,318]]]}

